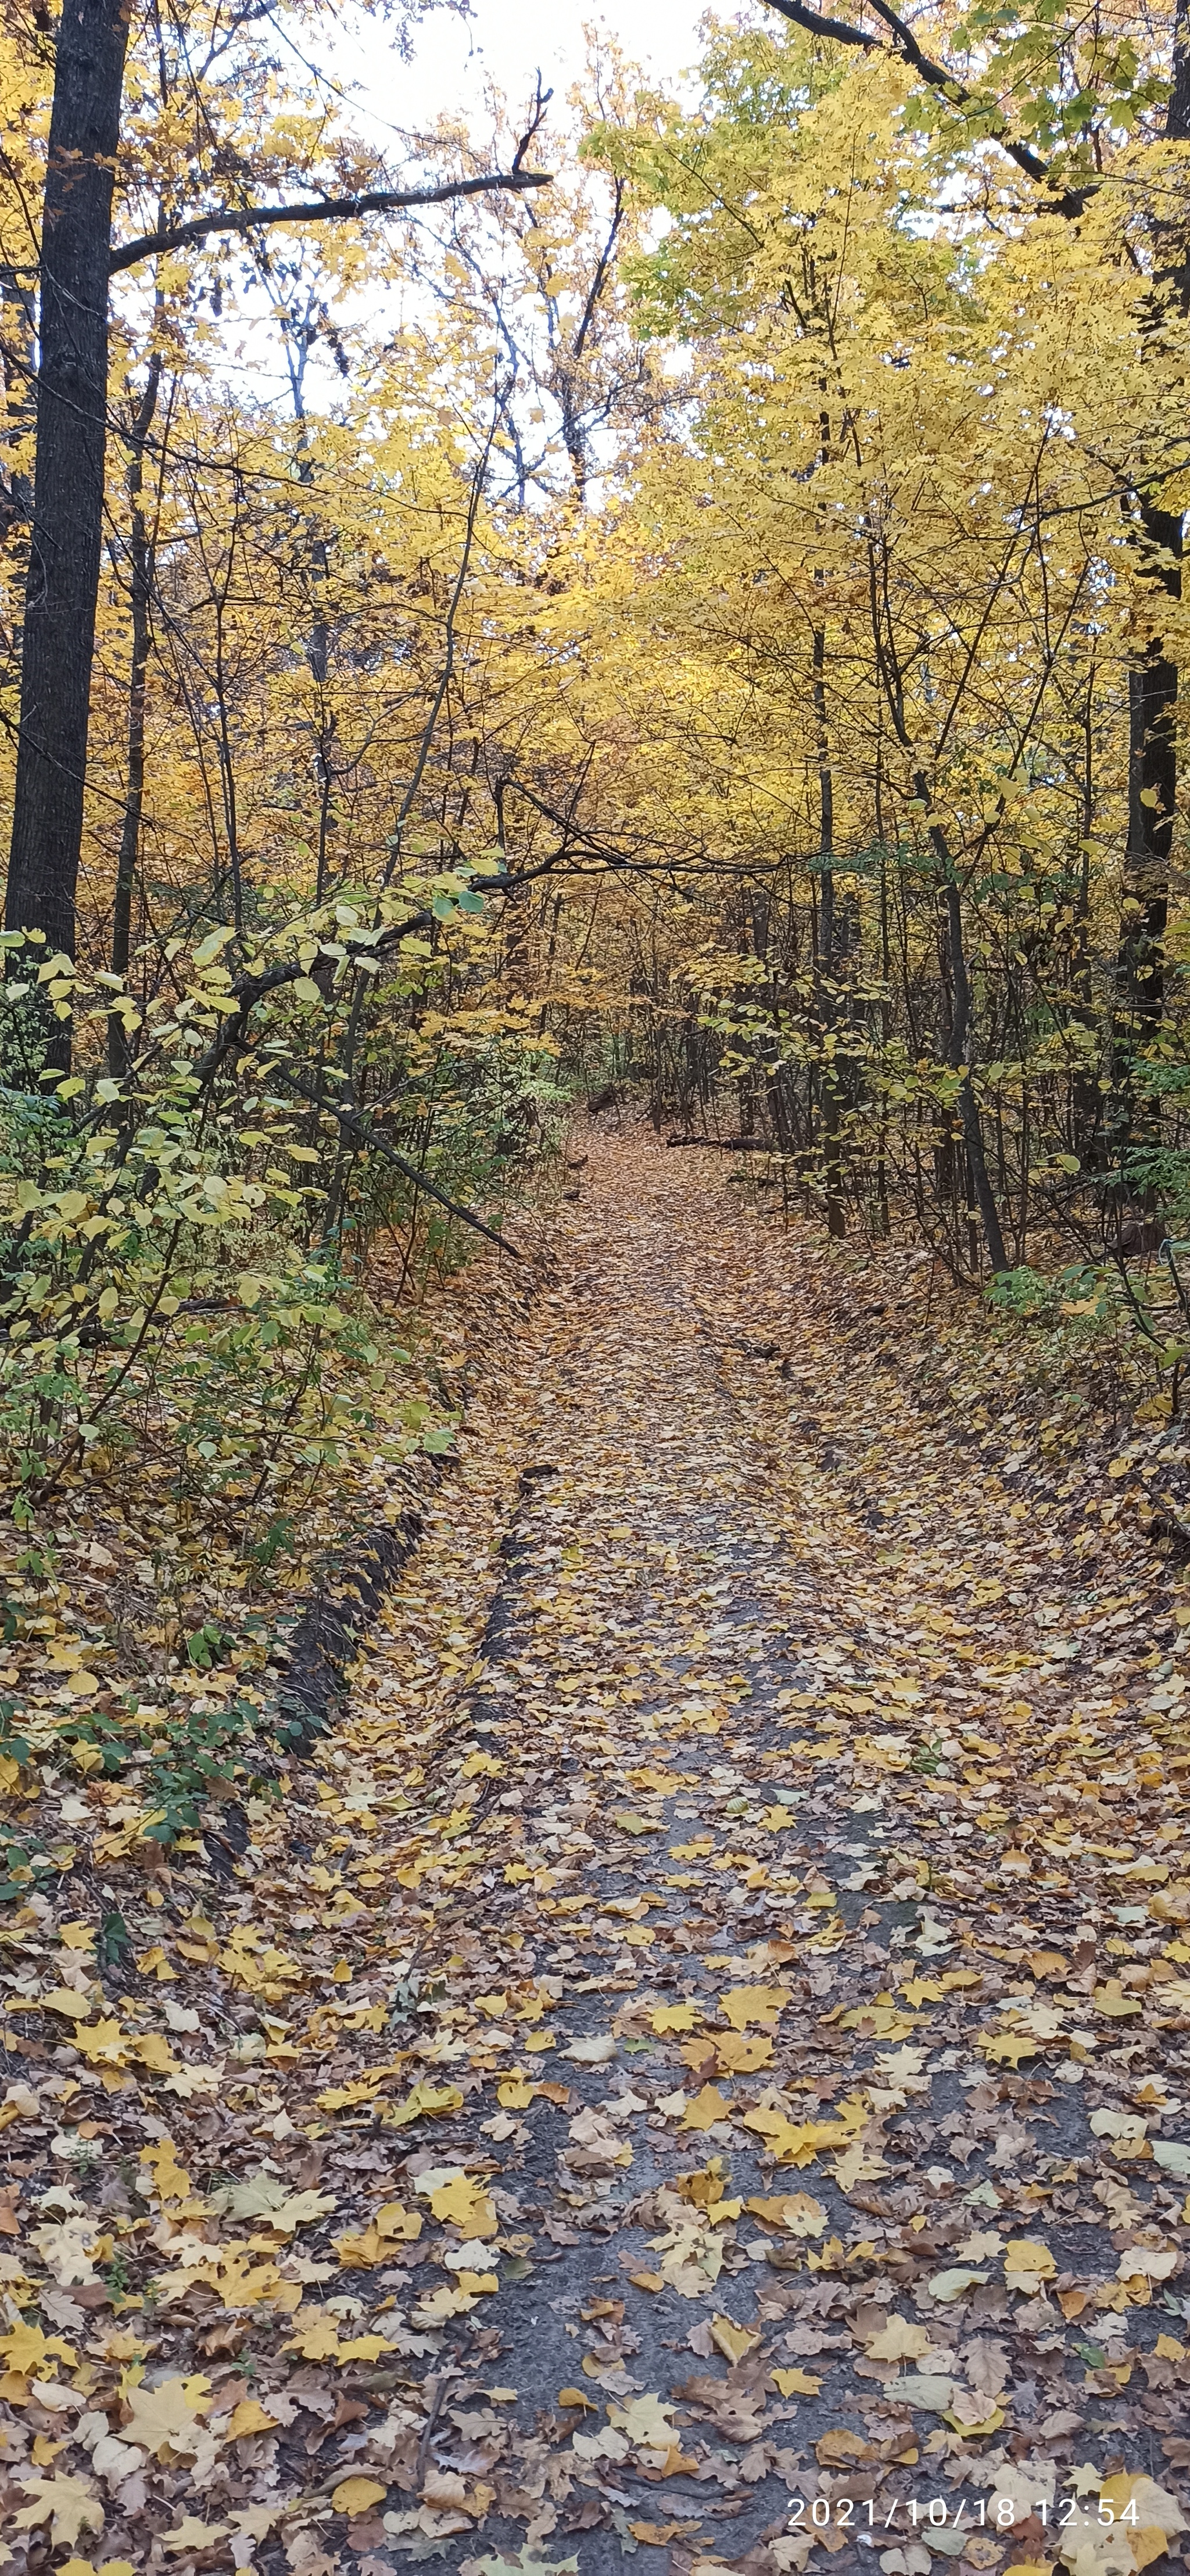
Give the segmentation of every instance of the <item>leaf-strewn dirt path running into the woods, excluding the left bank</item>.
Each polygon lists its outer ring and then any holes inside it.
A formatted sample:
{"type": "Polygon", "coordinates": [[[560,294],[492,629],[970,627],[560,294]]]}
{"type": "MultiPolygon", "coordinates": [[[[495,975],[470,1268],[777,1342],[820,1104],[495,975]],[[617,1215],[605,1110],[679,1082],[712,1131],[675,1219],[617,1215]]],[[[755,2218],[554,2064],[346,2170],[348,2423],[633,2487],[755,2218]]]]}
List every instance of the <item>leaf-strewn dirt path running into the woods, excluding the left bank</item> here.
{"type": "MultiPolygon", "coordinates": [[[[443,2334],[422,2486],[350,2535],[381,2558],[520,2566],[528,2530],[590,2576],[634,2548],[801,2566],[835,2494],[819,2545],[858,2563],[876,2537],[925,2571],[930,2501],[935,2558],[1046,2561],[1072,2463],[1190,2460],[1190,1953],[1159,1958],[1149,1919],[1177,1819],[1141,1780],[1128,1839],[1077,1832],[1120,1656],[1074,1682],[1061,1638],[1041,1651],[1061,1538],[1010,1517],[889,1352],[855,1373],[806,1303],[822,1255],[729,1175],[590,1144],[471,1440],[487,1510],[495,1458],[505,1489],[518,1468],[495,1602],[458,1492],[412,1577],[422,1618],[456,1605],[458,1656],[484,1631],[417,1728],[435,1808],[410,1783],[389,1917],[443,1978],[402,2084],[464,2099],[366,2148],[371,2195],[425,2213],[389,2295],[443,2334]]],[[[397,1597],[361,1759],[417,1641],[397,1597]]]]}

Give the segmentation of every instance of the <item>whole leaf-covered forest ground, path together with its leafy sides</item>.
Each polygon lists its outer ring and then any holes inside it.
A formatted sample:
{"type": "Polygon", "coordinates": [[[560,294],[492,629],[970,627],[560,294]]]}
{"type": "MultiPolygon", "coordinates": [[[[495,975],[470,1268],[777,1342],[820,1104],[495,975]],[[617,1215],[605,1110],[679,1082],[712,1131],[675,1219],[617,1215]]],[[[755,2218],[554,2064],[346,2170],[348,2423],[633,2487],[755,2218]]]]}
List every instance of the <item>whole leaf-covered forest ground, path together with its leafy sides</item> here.
{"type": "Polygon", "coordinates": [[[222,1886],[113,1880],[124,1981],[8,1935],[0,2566],[1182,2550],[1162,1440],[582,1144],[345,1721],[222,1886]]]}

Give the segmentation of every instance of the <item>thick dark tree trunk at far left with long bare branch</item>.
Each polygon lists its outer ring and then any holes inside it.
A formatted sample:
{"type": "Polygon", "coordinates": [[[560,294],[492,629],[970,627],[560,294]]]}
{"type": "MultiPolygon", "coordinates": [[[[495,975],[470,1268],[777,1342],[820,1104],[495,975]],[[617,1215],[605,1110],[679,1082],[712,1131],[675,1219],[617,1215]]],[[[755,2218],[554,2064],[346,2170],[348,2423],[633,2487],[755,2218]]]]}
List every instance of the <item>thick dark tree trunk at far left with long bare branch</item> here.
{"type": "MultiPolygon", "coordinates": [[[[90,659],[103,544],[111,193],[126,0],[67,0],[57,36],[41,224],[33,531],[8,930],[75,956],[90,659]]],[[[54,1059],[70,1051],[59,1028],[54,1059]]]]}

